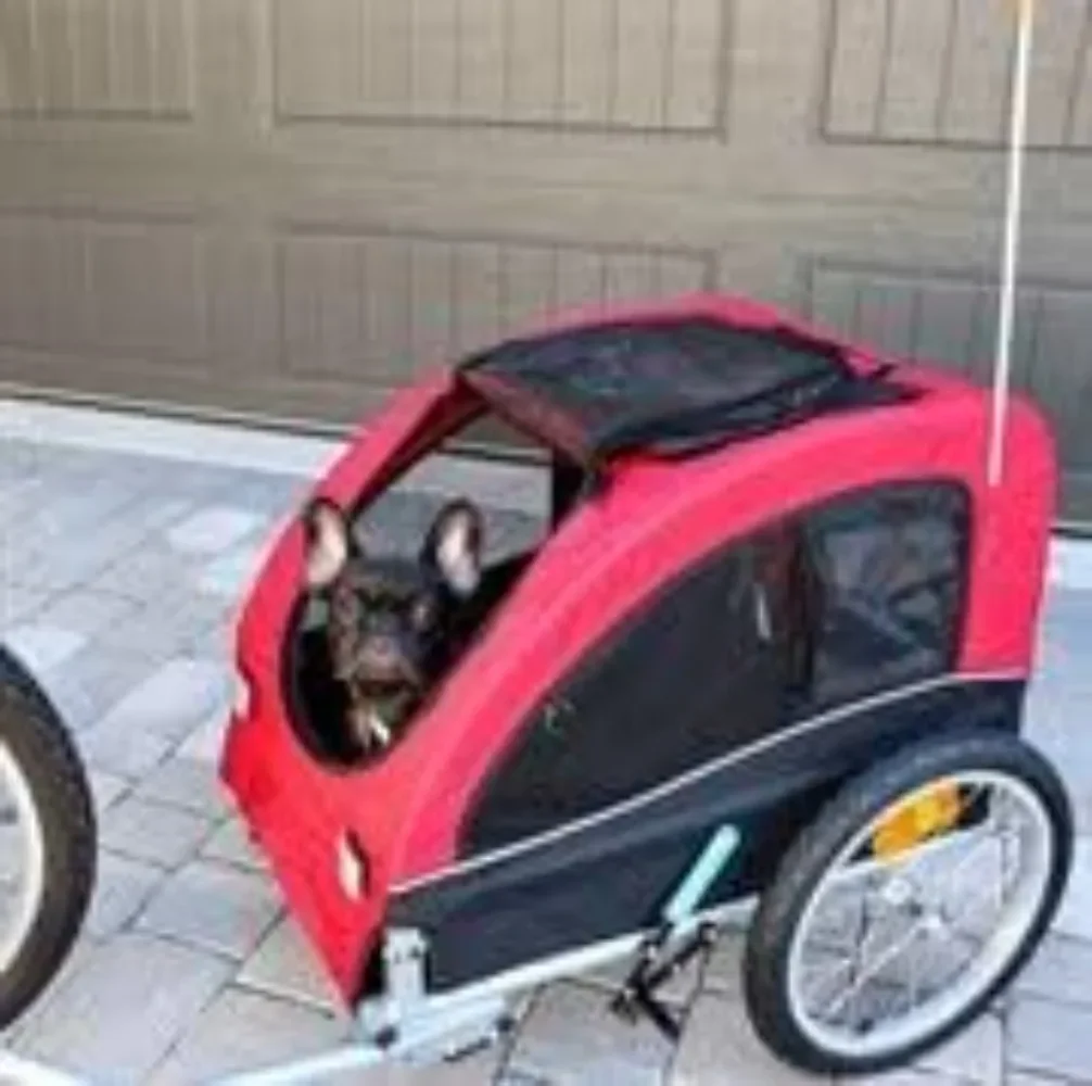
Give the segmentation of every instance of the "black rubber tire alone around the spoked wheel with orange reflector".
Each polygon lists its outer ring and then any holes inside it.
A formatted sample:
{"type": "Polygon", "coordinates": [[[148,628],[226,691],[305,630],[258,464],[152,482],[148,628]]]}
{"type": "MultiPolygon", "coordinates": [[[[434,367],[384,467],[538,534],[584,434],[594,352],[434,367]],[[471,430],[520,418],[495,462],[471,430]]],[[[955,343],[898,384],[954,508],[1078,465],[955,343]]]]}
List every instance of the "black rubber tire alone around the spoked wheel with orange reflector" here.
{"type": "Polygon", "coordinates": [[[744,991],[756,1031],[782,1060],[819,1074],[875,1074],[942,1043],[986,1010],[1035,951],[1065,890],[1072,845],[1071,808],[1058,775],[1017,736],[976,732],[928,740],[868,769],[847,782],[800,834],[759,904],[744,958],[744,991]],[[794,934],[815,888],[854,835],[892,803],[940,777],[969,770],[1014,777],[1034,791],[1046,810],[1054,860],[1026,939],[981,998],[915,1043],[869,1055],[820,1046],[800,1028],[788,991],[794,934]]]}

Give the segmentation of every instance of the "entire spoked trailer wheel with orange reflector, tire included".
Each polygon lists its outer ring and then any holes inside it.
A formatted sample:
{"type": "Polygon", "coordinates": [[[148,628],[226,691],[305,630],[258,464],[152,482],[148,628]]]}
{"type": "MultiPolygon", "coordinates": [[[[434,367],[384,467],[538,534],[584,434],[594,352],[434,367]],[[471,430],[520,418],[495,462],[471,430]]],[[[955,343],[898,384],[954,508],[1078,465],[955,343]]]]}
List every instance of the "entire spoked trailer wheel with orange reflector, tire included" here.
{"type": "Polygon", "coordinates": [[[1057,774],[1016,736],[930,740],[867,770],[759,905],[744,966],[756,1030],[821,1074],[876,1073],[942,1042],[1038,945],[1072,838],[1057,774]]]}

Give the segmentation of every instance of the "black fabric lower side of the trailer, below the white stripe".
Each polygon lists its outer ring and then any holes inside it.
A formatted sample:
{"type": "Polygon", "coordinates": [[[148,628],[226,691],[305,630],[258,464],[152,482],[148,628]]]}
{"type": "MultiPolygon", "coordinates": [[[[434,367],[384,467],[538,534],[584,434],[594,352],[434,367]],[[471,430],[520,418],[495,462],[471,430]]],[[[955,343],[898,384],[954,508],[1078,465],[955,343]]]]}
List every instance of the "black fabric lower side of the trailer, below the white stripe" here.
{"type": "Polygon", "coordinates": [[[652,925],[710,833],[743,841],[707,905],[760,890],[819,805],[855,771],[927,735],[1019,728],[1020,682],[969,682],[865,706],[637,808],[396,896],[437,991],[652,925]]]}

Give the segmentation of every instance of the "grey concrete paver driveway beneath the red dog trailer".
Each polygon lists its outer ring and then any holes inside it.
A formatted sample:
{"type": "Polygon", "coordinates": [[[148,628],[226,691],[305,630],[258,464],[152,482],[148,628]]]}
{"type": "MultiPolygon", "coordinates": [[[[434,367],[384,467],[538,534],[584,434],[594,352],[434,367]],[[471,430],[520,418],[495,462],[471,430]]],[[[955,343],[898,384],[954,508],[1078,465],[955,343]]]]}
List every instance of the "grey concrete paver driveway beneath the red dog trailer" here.
{"type": "MultiPolygon", "coordinates": [[[[7,1043],[111,1083],[181,1083],[321,1049],[348,1023],[214,778],[228,629],[306,480],[0,438],[0,629],[92,767],[99,883],[63,976],[7,1043]]],[[[487,471],[487,469],[482,469],[487,471]]],[[[429,499],[384,510],[419,530],[429,499]]],[[[519,514],[499,512],[512,518],[519,514]]],[[[891,1086],[1092,1083],[1092,591],[1052,588],[1030,733],[1066,775],[1081,831],[1066,907],[995,1013],[891,1086]]],[[[503,1050],[360,1083],[805,1083],[747,1024],[740,939],[677,984],[673,1051],[606,1010],[609,978],[538,992],[503,1050]]]]}

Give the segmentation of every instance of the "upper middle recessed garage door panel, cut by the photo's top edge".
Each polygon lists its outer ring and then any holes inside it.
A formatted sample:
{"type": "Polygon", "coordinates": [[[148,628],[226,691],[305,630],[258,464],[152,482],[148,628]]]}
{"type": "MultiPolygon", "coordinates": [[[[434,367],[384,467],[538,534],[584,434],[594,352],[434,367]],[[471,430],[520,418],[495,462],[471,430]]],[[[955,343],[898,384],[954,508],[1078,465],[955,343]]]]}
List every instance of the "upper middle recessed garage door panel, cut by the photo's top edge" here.
{"type": "Polygon", "coordinates": [[[713,131],[727,0],[319,0],[274,8],[285,122],[713,131]]]}

